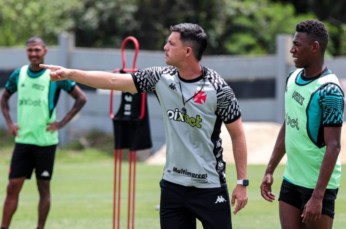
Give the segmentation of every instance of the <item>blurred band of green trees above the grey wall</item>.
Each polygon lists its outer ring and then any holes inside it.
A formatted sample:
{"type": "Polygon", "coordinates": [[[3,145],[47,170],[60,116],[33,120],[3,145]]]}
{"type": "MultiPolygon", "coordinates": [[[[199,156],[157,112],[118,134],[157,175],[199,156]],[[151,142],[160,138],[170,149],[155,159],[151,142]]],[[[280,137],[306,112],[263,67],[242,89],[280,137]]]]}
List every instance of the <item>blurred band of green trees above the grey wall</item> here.
{"type": "MultiPolygon", "coordinates": [[[[141,49],[162,50],[171,25],[191,22],[208,34],[207,54],[273,54],[277,34],[293,36],[299,21],[317,18],[313,10],[297,13],[279,0],[0,0],[0,9],[0,45],[24,45],[32,35],[56,44],[57,35],[70,30],[77,46],[119,48],[132,35],[141,49]]],[[[343,17],[337,25],[321,18],[332,55],[346,54],[343,17]]]]}

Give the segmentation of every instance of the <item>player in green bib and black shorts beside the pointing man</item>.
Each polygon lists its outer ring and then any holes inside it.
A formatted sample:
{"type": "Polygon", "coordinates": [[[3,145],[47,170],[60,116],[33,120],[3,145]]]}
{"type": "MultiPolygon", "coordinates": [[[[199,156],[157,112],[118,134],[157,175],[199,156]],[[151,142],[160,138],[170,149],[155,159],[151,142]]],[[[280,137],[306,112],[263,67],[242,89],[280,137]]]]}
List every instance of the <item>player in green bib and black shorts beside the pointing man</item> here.
{"type": "Polygon", "coordinates": [[[298,69],[287,77],[285,120],[261,184],[261,195],[272,202],[273,173],[286,153],[279,196],[283,229],[333,226],[345,99],[338,78],[324,61],[327,44],[322,22],[297,24],[290,52],[298,69]]]}

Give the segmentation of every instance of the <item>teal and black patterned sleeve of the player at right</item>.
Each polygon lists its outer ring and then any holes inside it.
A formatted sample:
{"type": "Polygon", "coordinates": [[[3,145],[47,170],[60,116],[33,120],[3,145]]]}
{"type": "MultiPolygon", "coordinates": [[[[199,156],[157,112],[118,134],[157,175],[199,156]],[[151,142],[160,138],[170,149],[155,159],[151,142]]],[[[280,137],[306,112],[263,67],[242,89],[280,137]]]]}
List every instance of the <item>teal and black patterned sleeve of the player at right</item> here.
{"type": "Polygon", "coordinates": [[[333,83],[320,89],[319,103],[322,108],[322,125],[324,127],[342,126],[345,97],[342,89],[333,83]]]}

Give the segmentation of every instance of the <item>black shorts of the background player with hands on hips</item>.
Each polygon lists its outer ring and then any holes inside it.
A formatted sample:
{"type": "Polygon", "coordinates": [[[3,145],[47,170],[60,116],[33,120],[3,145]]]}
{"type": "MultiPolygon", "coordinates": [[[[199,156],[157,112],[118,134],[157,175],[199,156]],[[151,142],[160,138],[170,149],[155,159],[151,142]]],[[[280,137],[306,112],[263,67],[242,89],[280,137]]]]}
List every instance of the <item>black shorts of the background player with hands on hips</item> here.
{"type": "Polygon", "coordinates": [[[13,150],[9,179],[26,176],[31,178],[35,168],[38,180],[51,180],[56,145],[37,146],[16,143],[13,150]]]}

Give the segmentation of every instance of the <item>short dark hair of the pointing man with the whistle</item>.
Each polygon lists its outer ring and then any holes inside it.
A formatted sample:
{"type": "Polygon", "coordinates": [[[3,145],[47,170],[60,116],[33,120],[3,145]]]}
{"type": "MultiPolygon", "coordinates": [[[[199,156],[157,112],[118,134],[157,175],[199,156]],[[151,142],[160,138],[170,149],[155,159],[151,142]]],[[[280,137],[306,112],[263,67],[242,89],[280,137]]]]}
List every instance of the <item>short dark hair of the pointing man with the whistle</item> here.
{"type": "Polygon", "coordinates": [[[180,40],[184,45],[189,45],[192,48],[194,57],[197,61],[202,59],[204,51],[208,46],[208,37],[206,32],[197,24],[180,23],[171,26],[172,32],[180,33],[180,40]]]}

